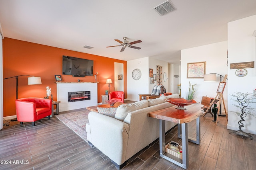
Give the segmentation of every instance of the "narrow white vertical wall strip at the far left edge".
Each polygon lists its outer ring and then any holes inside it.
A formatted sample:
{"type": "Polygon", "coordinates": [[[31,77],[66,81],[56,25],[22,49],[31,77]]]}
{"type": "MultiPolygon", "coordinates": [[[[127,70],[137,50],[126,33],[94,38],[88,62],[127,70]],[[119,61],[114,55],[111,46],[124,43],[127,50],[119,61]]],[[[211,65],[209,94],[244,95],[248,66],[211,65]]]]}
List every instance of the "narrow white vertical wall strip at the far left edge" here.
{"type": "MultiPolygon", "coordinates": [[[[0,24],[1,27],[1,24],[0,24]]],[[[3,129],[4,122],[4,101],[3,101],[3,41],[0,33],[0,129],[3,129]]]]}

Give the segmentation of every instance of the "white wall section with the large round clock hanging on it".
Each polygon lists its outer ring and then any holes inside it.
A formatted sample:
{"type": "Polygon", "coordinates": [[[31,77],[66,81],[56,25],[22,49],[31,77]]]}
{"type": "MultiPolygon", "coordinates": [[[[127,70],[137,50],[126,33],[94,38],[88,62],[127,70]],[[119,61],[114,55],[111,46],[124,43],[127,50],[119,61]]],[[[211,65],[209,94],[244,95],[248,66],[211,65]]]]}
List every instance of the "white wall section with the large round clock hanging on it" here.
{"type": "Polygon", "coordinates": [[[127,61],[127,100],[139,101],[139,94],[148,94],[148,57],[127,61]],[[139,80],[132,78],[132,71],[139,68],[142,76],[139,80]]]}

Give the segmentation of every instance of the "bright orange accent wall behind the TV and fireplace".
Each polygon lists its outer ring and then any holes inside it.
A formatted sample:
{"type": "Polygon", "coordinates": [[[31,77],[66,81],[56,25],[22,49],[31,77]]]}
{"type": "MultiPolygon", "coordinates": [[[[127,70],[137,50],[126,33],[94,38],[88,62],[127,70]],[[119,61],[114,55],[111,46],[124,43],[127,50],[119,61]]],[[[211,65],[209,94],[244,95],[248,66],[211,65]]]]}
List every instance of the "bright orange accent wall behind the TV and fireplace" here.
{"type": "MultiPolygon", "coordinates": [[[[98,102],[101,101],[101,95],[105,95],[108,90],[106,79],[111,78],[114,82],[114,63],[124,64],[124,94],[127,98],[127,62],[98,55],[91,55],[47,45],[20,41],[17,39],[3,39],[3,77],[28,74],[40,76],[42,84],[28,85],[28,76],[18,77],[18,98],[46,96],[46,86],[52,89],[53,100],[57,100],[56,80],[54,75],[62,76],[64,82],[95,82],[94,76],[73,77],[71,75],[62,75],[62,55],[90,59],[94,61],[93,73],[98,72],[98,102]]],[[[16,115],[16,78],[3,80],[4,88],[4,117],[16,115]]],[[[110,91],[114,91],[114,84],[111,84],[110,91]]]]}

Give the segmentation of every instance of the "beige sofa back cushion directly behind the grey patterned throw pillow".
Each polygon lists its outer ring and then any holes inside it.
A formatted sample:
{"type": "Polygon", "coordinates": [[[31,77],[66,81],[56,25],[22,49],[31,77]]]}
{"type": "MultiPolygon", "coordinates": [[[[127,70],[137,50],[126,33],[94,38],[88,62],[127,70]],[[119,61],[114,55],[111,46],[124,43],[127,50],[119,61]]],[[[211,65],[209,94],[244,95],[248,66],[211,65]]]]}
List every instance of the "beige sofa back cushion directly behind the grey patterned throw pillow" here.
{"type": "Polygon", "coordinates": [[[124,121],[125,117],[129,112],[132,112],[138,109],[143,109],[145,107],[148,107],[148,100],[141,100],[140,102],[135,102],[131,104],[122,104],[117,107],[116,115],[114,118],[120,121],[124,121]]]}

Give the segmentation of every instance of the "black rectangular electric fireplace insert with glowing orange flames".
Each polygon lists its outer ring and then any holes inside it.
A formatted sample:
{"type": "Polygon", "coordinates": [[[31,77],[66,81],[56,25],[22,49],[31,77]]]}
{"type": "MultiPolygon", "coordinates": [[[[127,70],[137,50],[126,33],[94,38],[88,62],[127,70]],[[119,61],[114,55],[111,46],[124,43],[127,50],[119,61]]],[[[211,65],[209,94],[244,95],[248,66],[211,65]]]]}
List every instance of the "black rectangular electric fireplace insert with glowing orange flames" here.
{"type": "Polygon", "coordinates": [[[68,92],[68,102],[78,102],[83,100],[91,100],[90,91],[68,92]]]}

